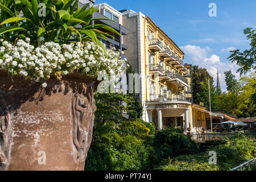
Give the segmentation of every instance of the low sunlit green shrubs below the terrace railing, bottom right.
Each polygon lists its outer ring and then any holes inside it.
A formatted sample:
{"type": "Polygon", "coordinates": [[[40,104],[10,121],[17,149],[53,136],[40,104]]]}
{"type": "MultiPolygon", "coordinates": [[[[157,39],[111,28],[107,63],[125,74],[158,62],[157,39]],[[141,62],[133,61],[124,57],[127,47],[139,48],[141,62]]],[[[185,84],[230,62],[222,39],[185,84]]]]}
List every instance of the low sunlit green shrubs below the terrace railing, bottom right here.
{"type": "MultiPolygon", "coordinates": [[[[167,171],[176,170],[229,170],[240,164],[255,158],[256,143],[246,139],[241,134],[232,139],[226,139],[218,146],[212,146],[207,151],[195,155],[181,155],[175,159],[169,160],[168,164],[161,169],[167,171]],[[217,165],[210,165],[209,151],[216,151],[217,165]]],[[[250,170],[254,170],[254,166],[250,170]]]]}

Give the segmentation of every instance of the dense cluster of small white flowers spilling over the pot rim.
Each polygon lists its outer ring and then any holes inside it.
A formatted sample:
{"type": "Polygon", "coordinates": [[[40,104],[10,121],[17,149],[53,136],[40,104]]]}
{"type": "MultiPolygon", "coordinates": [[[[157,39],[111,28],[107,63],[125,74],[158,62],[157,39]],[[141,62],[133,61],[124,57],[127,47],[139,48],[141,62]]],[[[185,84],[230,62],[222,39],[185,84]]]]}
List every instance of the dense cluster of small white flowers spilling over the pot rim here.
{"type": "MultiPolygon", "coordinates": [[[[104,50],[96,43],[85,42],[59,45],[53,42],[40,47],[30,44],[30,39],[18,40],[15,46],[1,40],[0,69],[11,76],[47,80],[73,72],[97,78],[98,75],[119,75],[126,60],[121,59],[121,51],[104,50]]],[[[42,84],[46,87],[46,83],[42,84]]]]}

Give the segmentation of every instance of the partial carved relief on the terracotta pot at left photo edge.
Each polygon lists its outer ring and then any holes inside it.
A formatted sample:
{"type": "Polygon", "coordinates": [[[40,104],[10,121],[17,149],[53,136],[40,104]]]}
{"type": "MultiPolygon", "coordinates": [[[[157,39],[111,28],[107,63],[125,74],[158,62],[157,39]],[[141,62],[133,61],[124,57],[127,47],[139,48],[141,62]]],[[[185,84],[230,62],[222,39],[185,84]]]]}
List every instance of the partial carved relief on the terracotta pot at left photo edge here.
{"type": "Polygon", "coordinates": [[[11,117],[0,94],[0,170],[6,170],[10,150],[11,117]]]}

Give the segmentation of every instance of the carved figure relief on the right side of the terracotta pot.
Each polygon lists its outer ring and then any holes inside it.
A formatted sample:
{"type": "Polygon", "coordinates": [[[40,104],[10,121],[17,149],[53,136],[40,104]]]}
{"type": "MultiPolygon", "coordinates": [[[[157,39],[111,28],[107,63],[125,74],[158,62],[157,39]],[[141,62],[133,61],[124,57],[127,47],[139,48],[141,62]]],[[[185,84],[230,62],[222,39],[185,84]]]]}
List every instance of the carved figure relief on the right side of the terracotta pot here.
{"type": "Polygon", "coordinates": [[[77,150],[77,159],[84,158],[92,141],[92,127],[94,123],[94,99],[73,93],[73,143],[77,150]],[[92,120],[93,119],[93,120],[92,120]]]}

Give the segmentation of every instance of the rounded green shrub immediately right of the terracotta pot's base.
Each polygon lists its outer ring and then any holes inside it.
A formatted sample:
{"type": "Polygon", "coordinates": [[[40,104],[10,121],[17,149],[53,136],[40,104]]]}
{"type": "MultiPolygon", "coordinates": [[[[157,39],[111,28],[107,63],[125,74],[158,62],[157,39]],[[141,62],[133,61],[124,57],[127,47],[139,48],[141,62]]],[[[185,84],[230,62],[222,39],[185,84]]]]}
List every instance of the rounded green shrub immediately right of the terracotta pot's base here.
{"type": "Polygon", "coordinates": [[[86,158],[85,170],[134,171],[150,168],[150,158],[154,152],[150,145],[130,135],[117,138],[113,136],[112,143],[106,147],[92,143],[86,158]]]}

